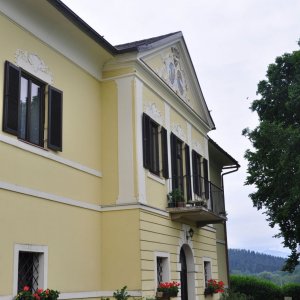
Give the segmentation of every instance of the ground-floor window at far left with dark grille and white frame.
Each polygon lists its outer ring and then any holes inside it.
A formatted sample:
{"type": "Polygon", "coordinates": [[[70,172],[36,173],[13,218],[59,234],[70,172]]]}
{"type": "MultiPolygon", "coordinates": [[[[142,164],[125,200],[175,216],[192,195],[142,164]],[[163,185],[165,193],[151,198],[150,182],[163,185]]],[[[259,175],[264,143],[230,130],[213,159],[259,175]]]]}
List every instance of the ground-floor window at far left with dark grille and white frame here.
{"type": "Polygon", "coordinates": [[[47,286],[48,247],[15,245],[14,295],[29,286],[31,291],[47,286]]]}

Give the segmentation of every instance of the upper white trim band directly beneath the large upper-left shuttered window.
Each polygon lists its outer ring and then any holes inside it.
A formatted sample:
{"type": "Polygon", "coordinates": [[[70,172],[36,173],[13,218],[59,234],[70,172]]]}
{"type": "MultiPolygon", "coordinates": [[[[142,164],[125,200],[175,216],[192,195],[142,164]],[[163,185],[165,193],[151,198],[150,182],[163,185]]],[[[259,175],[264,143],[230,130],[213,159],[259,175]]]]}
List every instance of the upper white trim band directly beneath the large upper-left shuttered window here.
{"type": "Polygon", "coordinates": [[[56,155],[52,152],[49,152],[46,149],[40,149],[40,148],[35,147],[33,145],[27,144],[25,142],[22,142],[22,141],[16,139],[15,137],[0,135],[0,142],[8,144],[8,145],[16,147],[16,148],[19,148],[19,149],[22,149],[22,150],[25,150],[27,152],[45,157],[47,159],[50,159],[50,160],[53,160],[57,163],[66,165],[66,166],[71,167],[73,169],[77,169],[79,171],[88,173],[90,175],[93,175],[93,176],[96,176],[96,177],[102,177],[102,173],[98,170],[89,168],[89,167],[84,166],[84,165],[82,165],[78,162],[75,162],[75,161],[63,158],[61,156],[58,156],[58,155],[56,155]]]}

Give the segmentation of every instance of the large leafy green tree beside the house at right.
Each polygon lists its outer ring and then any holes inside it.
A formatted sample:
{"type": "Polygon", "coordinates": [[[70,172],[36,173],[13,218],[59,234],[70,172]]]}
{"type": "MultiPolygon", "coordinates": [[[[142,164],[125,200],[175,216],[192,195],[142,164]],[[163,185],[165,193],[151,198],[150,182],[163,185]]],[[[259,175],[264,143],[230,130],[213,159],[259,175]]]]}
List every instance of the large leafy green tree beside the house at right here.
{"type": "Polygon", "coordinates": [[[253,145],[245,154],[246,184],[256,187],[250,194],[253,205],[265,209],[271,227],[279,226],[276,237],[291,250],[284,270],[293,271],[300,244],[300,50],[269,65],[257,94],[250,108],[259,125],[243,130],[253,145]]]}

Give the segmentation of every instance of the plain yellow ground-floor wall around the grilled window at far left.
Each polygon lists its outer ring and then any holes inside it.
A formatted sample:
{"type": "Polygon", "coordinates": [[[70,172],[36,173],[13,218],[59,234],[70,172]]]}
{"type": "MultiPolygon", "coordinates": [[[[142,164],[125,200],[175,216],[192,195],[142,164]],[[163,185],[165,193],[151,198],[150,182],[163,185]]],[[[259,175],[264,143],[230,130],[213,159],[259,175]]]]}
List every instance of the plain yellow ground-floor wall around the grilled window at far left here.
{"type": "Polygon", "coordinates": [[[98,212],[0,190],[0,295],[11,295],[14,244],[48,246],[48,287],[99,290],[101,219],[98,212]],[[62,230],[63,228],[63,230],[62,230]],[[92,259],[91,259],[92,258],[92,259]]]}

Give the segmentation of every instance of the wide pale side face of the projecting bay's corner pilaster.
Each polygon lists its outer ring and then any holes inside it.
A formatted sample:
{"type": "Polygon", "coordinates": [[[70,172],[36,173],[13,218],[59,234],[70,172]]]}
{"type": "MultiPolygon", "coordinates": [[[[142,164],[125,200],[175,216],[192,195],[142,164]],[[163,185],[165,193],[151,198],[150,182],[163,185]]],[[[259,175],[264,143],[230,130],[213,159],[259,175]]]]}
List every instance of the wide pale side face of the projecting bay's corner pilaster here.
{"type": "Polygon", "coordinates": [[[133,77],[116,80],[118,87],[118,163],[119,196],[117,203],[132,203],[134,199],[134,161],[133,161],[133,116],[132,83],[133,77]]]}

